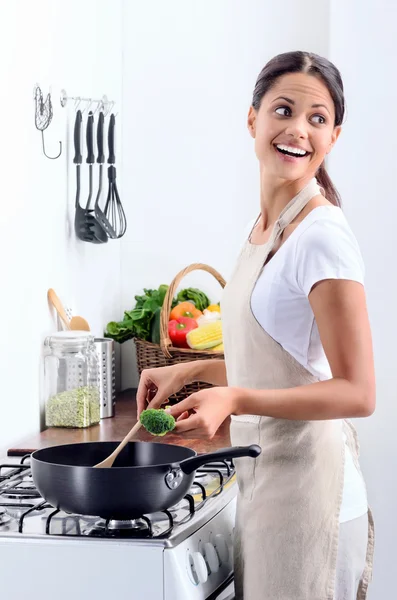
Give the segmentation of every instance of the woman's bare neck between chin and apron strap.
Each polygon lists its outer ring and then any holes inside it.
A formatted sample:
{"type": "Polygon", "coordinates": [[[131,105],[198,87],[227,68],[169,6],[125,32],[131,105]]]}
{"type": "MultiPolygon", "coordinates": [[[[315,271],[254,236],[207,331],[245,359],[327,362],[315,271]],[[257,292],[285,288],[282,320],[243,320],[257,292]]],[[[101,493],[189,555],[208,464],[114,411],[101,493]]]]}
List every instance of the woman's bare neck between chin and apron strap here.
{"type": "Polygon", "coordinates": [[[265,231],[277,221],[280,213],[313,178],[313,175],[287,181],[269,177],[262,169],[260,174],[261,223],[265,231]]]}

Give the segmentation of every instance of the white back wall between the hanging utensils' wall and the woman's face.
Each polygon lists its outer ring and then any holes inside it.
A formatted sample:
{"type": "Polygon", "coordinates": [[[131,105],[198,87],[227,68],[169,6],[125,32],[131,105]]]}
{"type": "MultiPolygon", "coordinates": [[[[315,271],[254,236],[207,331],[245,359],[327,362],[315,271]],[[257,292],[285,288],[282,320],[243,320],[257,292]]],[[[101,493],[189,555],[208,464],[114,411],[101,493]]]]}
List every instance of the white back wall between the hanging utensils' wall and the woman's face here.
{"type": "MultiPolygon", "coordinates": [[[[124,309],[193,262],[227,278],[259,207],[246,129],[256,78],[279,52],[327,53],[328,2],[126,1],[123,26],[124,309]]],[[[219,299],[209,275],[184,283],[219,299]]],[[[123,386],[135,385],[132,342],[122,360],[123,386]]]]}

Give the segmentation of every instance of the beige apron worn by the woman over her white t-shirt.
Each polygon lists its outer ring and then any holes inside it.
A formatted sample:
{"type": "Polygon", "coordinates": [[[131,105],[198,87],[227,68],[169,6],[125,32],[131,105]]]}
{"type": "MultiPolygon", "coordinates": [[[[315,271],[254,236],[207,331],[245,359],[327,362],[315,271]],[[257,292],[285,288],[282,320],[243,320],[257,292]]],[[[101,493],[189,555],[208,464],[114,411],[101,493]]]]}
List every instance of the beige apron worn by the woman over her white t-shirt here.
{"type": "MultiPolygon", "coordinates": [[[[246,241],[222,297],[229,386],[281,389],[318,381],[266,333],[251,310],[251,294],[284,228],[321,193],[315,179],[282,211],[269,241],[246,241]]],[[[259,444],[257,459],[236,460],[239,494],[235,527],[238,600],[333,600],[344,482],[344,441],[358,465],[350,421],[292,421],[232,416],[234,445],[259,444]]],[[[358,600],[372,575],[369,511],[367,565],[358,600]]]]}

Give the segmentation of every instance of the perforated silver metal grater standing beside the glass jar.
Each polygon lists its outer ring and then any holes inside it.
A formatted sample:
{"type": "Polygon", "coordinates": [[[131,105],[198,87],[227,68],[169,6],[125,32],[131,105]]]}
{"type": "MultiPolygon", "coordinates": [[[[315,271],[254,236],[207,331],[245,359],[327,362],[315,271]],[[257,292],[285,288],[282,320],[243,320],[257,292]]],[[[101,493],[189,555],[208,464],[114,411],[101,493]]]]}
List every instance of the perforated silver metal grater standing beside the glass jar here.
{"type": "Polygon", "coordinates": [[[98,355],[98,381],[101,419],[114,416],[116,404],[116,357],[114,341],[95,338],[98,355]]]}

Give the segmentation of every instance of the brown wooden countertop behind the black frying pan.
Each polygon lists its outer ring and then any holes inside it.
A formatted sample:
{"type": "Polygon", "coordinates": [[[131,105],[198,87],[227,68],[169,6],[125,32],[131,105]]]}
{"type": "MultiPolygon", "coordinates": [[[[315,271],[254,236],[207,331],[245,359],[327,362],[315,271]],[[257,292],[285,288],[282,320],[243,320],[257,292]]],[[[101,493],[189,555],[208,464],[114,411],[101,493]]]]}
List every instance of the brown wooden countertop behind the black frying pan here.
{"type": "MultiPolygon", "coordinates": [[[[80,442],[121,442],[131,427],[136,423],[135,389],[121,392],[116,400],[115,416],[103,419],[98,425],[86,429],[64,429],[61,427],[49,427],[41,433],[32,435],[21,440],[8,450],[8,456],[24,456],[35,450],[58,446],[62,444],[78,444],[80,442]]],[[[177,434],[168,433],[164,437],[150,435],[145,429],[141,429],[136,439],[140,441],[151,441],[159,444],[178,444],[193,448],[199,454],[213,452],[218,448],[226,448],[231,445],[229,435],[230,419],[221,425],[216,435],[211,440],[186,439],[177,434]]]]}

